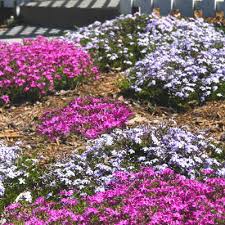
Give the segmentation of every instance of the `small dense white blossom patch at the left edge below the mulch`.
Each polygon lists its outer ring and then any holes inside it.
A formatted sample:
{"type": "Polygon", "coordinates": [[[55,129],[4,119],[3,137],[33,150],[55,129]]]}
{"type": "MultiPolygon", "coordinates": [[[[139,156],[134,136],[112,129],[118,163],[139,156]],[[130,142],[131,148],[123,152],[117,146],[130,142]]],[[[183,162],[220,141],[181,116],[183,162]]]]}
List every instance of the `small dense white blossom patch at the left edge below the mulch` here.
{"type": "Polygon", "coordinates": [[[3,142],[0,142],[0,197],[5,192],[4,181],[21,175],[21,171],[17,169],[15,163],[20,151],[18,146],[8,147],[3,142]]]}

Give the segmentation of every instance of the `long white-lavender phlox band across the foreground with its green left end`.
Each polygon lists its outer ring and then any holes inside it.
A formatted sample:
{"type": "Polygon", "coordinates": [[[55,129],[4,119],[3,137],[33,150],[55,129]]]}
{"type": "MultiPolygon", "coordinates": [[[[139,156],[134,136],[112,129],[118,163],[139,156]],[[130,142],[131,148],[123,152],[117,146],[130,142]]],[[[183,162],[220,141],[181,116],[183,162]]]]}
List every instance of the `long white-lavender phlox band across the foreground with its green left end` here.
{"type": "Polygon", "coordinates": [[[62,189],[73,189],[78,198],[102,192],[109,188],[114,173],[136,172],[146,166],[156,171],[171,168],[196,180],[225,177],[221,151],[201,135],[179,128],[143,126],[104,134],[89,141],[81,155],[74,152],[47,167],[21,155],[7,168],[3,162],[5,193],[0,196],[0,211],[9,203],[38,196],[55,200],[62,189]]]}

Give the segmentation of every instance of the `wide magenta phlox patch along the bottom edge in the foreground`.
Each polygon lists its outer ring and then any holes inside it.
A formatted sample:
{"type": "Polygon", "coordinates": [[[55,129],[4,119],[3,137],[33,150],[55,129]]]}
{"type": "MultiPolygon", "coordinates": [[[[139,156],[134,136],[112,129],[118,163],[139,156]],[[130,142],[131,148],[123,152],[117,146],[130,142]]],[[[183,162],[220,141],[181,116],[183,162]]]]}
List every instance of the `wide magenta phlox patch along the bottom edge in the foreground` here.
{"type": "Polygon", "coordinates": [[[86,200],[62,191],[57,202],[39,197],[33,204],[14,203],[6,224],[224,224],[225,179],[196,181],[170,169],[117,172],[108,189],[86,200]]]}

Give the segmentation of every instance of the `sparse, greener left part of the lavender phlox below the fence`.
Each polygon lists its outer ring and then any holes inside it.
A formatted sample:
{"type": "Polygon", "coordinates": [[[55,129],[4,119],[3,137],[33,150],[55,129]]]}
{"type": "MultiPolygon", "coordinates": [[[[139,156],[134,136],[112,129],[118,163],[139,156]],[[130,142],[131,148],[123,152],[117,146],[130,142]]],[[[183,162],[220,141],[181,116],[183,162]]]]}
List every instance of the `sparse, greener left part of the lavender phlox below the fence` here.
{"type": "Polygon", "coordinates": [[[82,27],[64,38],[80,42],[101,69],[124,70],[133,66],[150,50],[151,37],[145,34],[148,19],[148,16],[138,14],[120,16],[82,27]]]}

